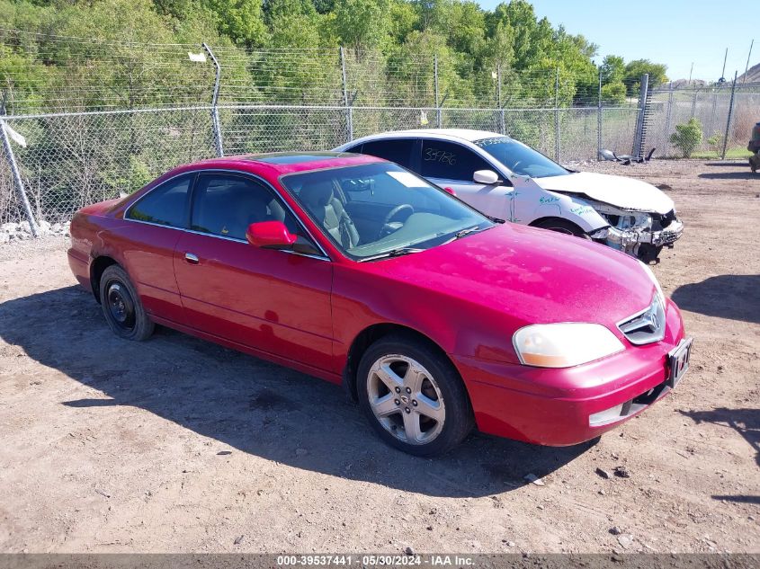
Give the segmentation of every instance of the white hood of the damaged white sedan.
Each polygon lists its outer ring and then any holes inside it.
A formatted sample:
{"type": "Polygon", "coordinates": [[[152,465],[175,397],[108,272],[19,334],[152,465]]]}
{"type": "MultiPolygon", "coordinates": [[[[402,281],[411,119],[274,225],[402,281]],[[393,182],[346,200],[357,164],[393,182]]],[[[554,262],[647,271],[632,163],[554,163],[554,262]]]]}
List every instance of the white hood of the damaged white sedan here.
{"type": "Polygon", "coordinates": [[[541,188],[549,191],[585,194],[592,200],[603,201],[620,209],[666,214],[673,209],[673,200],[655,186],[624,176],[606,173],[577,172],[567,176],[534,178],[541,188]]]}

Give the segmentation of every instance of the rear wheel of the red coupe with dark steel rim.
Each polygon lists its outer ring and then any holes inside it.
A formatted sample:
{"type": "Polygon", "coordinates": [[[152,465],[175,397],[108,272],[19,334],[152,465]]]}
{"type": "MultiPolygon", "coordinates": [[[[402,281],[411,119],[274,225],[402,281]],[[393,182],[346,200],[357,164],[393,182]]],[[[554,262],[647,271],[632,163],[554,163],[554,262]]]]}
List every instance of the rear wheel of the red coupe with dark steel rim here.
{"type": "Polygon", "coordinates": [[[143,308],[127,271],[119,265],[111,265],[103,271],[100,299],[105,321],[117,336],[141,342],[153,333],[155,325],[143,308]]]}

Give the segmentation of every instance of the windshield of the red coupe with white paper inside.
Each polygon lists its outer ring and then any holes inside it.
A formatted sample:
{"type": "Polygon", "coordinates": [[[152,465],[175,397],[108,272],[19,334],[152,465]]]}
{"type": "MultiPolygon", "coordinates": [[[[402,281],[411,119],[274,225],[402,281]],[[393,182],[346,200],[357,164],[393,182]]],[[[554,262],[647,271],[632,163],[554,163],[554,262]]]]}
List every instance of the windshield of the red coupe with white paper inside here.
{"type": "Polygon", "coordinates": [[[335,246],[357,261],[414,253],[494,225],[396,164],[291,173],[280,182],[335,246]]]}

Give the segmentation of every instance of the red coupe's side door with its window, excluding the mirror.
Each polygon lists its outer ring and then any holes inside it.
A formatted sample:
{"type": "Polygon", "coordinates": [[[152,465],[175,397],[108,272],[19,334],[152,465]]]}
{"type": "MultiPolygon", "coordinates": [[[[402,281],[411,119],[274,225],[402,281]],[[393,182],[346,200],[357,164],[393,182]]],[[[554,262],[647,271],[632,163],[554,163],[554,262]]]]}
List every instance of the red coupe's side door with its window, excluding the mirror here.
{"type": "Polygon", "coordinates": [[[193,328],[331,370],[332,263],[326,256],[263,249],[246,242],[250,223],[281,220],[304,230],[264,182],[201,173],[192,233],[176,245],[174,273],[193,328]]]}

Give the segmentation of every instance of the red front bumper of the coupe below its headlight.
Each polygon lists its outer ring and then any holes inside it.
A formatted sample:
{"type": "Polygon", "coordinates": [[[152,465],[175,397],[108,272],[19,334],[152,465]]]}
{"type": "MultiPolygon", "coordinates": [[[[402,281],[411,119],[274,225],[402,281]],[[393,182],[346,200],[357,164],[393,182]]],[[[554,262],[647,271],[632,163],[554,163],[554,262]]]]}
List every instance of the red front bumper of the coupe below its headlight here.
{"type": "Polygon", "coordinates": [[[568,369],[452,356],[468,387],[478,429],[509,439],[568,446],[595,439],[670,392],[667,354],[684,338],[668,301],[662,342],[568,369]]]}

